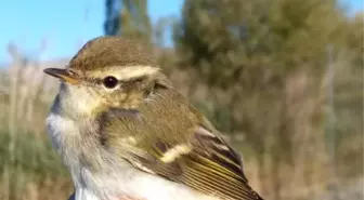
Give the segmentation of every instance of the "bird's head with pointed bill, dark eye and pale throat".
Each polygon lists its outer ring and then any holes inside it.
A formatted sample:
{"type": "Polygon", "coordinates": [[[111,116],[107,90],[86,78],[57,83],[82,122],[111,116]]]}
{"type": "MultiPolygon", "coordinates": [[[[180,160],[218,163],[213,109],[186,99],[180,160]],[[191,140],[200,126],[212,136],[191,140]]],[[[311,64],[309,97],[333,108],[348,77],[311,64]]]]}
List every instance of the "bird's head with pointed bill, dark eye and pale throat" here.
{"type": "Polygon", "coordinates": [[[113,107],[133,109],[156,85],[170,85],[145,45],[118,37],[93,39],[66,68],[44,72],[62,81],[53,108],[73,118],[113,107]]]}

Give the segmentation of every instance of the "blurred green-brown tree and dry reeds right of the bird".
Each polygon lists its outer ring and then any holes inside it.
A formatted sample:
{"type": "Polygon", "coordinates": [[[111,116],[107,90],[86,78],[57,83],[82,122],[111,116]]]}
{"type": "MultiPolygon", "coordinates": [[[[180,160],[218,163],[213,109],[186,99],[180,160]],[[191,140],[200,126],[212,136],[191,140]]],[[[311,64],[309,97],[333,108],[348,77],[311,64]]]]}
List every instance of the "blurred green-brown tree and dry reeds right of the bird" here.
{"type": "Polygon", "coordinates": [[[294,178],[363,173],[353,162],[364,139],[362,19],[335,0],[184,1],[173,32],[178,65],[193,71],[193,86],[206,85],[199,101],[212,105],[205,112],[214,124],[244,135],[237,145],[255,154],[261,178],[270,174],[262,190],[273,199],[294,178]],[[327,164],[334,170],[322,172],[327,164]],[[282,181],[283,168],[299,174],[282,181]]]}

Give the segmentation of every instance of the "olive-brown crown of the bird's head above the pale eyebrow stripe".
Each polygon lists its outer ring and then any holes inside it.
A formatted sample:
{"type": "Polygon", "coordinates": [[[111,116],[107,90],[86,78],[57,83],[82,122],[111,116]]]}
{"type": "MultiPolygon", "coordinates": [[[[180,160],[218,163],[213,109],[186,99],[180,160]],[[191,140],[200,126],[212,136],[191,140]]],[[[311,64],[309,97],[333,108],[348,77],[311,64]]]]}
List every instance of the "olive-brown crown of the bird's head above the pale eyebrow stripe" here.
{"type": "Polygon", "coordinates": [[[87,42],[72,58],[68,67],[77,70],[108,70],[113,66],[156,65],[151,49],[119,37],[100,37],[87,42]]]}

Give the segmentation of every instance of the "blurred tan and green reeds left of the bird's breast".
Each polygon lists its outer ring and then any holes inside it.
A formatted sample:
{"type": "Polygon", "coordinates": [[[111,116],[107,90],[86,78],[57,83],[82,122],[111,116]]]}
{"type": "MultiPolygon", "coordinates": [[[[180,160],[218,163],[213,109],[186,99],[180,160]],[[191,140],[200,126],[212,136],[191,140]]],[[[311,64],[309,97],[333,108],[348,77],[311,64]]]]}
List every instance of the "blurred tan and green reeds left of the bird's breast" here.
{"type": "Polygon", "coordinates": [[[44,126],[57,83],[44,66],[13,58],[0,70],[0,199],[67,199],[73,184],[44,126]]]}

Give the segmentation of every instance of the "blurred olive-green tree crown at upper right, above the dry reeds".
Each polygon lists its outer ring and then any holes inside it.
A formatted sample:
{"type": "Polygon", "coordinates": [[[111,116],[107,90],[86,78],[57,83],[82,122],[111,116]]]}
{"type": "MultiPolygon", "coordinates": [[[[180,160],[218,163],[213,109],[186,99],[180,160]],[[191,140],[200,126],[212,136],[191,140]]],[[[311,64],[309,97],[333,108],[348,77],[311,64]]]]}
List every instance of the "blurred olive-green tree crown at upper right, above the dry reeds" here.
{"type": "Polygon", "coordinates": [[[193,66],[209,85],[226,88],[306,64],[322,69],[327,45],[341,37],[340,21],[332,0],[186,0],[174,39],[182,66],[193,66]]]}

